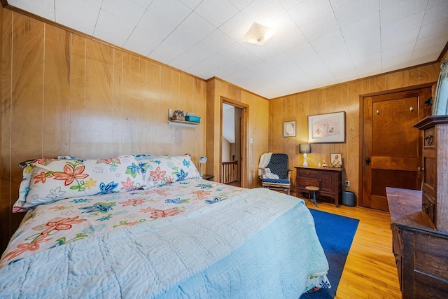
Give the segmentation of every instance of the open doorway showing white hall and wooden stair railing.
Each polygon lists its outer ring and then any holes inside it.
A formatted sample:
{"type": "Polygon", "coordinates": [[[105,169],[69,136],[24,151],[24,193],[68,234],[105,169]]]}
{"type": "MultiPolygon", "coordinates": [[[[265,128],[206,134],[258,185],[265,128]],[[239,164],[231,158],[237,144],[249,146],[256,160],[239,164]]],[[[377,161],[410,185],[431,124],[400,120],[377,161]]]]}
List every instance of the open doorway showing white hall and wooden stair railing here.
{"type": "Polygon", "coordinates": [[[221,100],[221,171],[220,182],[245,186],[246,163],[245,105],[230,99],[221,100]]]}

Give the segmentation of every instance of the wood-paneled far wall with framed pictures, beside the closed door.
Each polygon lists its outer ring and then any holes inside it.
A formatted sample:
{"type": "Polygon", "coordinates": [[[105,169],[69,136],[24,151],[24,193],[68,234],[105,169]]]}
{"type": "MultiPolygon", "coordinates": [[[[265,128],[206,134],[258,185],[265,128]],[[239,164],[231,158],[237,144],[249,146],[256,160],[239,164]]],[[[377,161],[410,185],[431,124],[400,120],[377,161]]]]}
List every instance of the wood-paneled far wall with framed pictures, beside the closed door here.
{"type": "MultiPolygon", "coordinates": [[[[323,160],[329,165],[330,153],[342,153],[345,168],[342,181],[349,180],[350,188],[347,190],[355,192],[358,197],[361,96],[372,92],[436,82],[439,73],[440,63],[437,62],[271,99],[269,100],[269,151],[287,153],[291,166],[302,165],[303,155],[299,153],[298,145],[308,141],[308,116],[345,111],[346,142],[312,144],[307,160],[312,166],[317,166],[318,162],[323,160]],[[283,138],[283,122],[290,120],[296,121],[297,134],[295,137],[283,138]]],[[[295,172],[291,175],[295,178],[295,172]]],[[[292,189],[294,192],[295,185],[294,179],[292,189]]]]}

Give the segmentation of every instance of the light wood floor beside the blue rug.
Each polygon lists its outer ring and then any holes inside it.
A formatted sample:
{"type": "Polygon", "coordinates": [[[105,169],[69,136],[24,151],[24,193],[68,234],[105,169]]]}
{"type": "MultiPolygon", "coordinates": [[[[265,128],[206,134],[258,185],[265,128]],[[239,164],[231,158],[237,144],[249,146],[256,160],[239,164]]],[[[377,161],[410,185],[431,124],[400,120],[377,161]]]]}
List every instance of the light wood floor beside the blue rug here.
{"type": "Polygon", "coordinates": [[[323,201],[307,207],[360,220],[335,298],[401,298],[388,212],[323,201]]]}

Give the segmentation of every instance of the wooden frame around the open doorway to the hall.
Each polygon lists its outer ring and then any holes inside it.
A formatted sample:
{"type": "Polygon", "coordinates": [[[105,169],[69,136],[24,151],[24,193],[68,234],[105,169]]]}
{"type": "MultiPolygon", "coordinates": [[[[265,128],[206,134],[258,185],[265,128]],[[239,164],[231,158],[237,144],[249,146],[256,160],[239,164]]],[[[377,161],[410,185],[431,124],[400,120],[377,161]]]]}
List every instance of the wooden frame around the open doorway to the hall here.
{"type": "MultiPolygon", "coordinates": [[[[219,165],[223,162],[223,103],[235,106],[236,108],[241,109],[241,157],[243,158],[240,161],[241,169],[240,169],[240,177],[239,181],[241,183],[242,188],[248,188],[248,116],[249,116],[249,106],[247,104],[237,102],[233,99],[229,99],[228,97],[221,96],[220,101],[220,123],[219,123],[219,165]]],[[[219,176],[221,177],[221,166],[219,167],[219,176]]]]}

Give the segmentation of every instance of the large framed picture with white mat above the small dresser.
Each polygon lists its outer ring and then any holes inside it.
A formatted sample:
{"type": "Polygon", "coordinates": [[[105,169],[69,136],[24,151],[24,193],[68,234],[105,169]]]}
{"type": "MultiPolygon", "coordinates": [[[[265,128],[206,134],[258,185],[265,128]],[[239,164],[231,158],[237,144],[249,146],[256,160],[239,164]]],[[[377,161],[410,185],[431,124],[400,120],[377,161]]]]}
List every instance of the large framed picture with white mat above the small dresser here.
{"type": "Polygon", "coordinates": [[[345,112],[308,116],[308,142],[310,144],[345,142],[345,112]]]}

